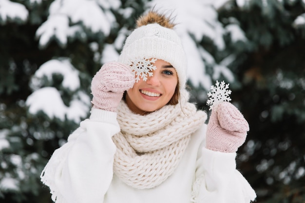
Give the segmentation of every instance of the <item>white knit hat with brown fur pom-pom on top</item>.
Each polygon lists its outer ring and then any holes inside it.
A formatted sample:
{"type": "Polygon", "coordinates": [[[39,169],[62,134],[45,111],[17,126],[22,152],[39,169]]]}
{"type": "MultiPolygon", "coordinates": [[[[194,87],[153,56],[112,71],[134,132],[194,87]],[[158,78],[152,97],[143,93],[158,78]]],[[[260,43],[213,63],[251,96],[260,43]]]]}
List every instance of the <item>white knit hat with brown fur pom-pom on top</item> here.
{"type": "Polygon", "coordinates": [[[137,28],[125,41],[119,62],[132,66],[151,58],[167,61],[177,72],[179,88],[184,89],[187,60],[180,37],[173,27],[171,19],[154,11],[140,17],[137,28]]]}

